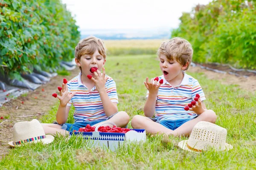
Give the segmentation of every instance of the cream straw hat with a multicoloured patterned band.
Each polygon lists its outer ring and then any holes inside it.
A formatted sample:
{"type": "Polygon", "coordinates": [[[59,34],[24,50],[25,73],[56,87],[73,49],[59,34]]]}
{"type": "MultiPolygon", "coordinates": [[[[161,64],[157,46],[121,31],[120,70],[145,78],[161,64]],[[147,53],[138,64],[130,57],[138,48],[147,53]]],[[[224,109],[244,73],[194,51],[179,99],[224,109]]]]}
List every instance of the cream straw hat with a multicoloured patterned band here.
{"type": "Polygon", "coordinates": [[[44,129],[37,119],[30,122],[17,122],[13,126],[13,141],[8,142],[11,147],[21,146],[25,143],[43,142],[49,144],[54,140],[52,135],[45,135],[44,129]]]}

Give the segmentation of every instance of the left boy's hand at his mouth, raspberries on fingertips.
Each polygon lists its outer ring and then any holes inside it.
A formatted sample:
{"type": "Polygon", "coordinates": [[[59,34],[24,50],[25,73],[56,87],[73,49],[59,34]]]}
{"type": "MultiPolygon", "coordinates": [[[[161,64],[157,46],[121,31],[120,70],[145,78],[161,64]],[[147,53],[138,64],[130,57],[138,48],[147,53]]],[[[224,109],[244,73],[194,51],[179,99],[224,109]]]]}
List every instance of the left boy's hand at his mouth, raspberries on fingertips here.
{"type": "Polygon", "coordinates": [[[95,82],[95,86],[97,91],[106,91],[105,89],[105,84],[108,80],[108,77],[105,77],[106,72],[105,72],[105,68],[102,68],[102,74],[99,71],[99,69],[97,71],[93,72],[95,75],[95,79],[92,77],[93,82],[95,82]]]}

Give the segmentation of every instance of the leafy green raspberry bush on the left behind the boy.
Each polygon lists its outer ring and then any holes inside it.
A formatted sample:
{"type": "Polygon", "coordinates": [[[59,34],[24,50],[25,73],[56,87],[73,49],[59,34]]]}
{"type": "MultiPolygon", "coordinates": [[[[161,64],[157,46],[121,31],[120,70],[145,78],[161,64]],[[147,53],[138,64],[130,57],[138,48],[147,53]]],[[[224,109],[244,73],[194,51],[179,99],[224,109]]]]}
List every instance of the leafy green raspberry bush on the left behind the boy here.
{"type": "Polygon", "coordinates": [[[21,79],[70,61],[80,37],[75,22],[60,0],[0,0],[1,73],[21,79]]]}

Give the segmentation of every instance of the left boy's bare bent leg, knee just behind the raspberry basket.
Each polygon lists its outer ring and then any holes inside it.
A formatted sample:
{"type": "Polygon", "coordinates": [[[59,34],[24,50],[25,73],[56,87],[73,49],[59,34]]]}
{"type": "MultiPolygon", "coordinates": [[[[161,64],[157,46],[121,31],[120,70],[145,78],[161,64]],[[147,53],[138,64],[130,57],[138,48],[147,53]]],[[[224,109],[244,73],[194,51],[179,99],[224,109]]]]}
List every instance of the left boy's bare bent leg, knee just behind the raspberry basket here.
{"type": "MultiPolygon", "coordinates": [[[[116,127],[125,127],[129,123],[129,119],[130,119],[130,117],[126,112],[120,111],[120,112],[116,113],[113,117],[111,117],[110,119],[108,119],[104,122],[97,123],[93,126],[96,127],[102,123],[111,122],[111,123],[116,124],[116,127]]],[[[113,126],[113,125],[105,124],[103,126],[113,126]]]]}

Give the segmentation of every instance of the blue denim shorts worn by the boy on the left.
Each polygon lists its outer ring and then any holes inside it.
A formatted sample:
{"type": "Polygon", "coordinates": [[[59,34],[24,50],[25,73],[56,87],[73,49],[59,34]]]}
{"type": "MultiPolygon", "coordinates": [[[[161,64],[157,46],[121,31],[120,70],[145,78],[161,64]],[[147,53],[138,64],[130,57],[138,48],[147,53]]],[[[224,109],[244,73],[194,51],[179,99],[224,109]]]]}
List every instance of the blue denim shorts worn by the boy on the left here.
{"type": "MultiPolygon", "coordinates": [[[[118,113],[118,112],[116,112],[116,113],[118,113]]],[[[108,119],[111,119],[115,114],[109,116],[108,119]]],[[[106,119],[106,120],[108,120],[108,119],[106,119]]],[[[93,126],[93,125],[96,125],[97,123],[104,122],[106,120],[84,121],[84,122],[80,122],[80,123],[75,122],[74,124],[64,123],[64,124],[61,124],[61,126],[62,126],[61,129],[67,130],[69,132],[73,132],[74,130],[78,131],[80,127],[85,127],[87,124],[89,124],[90,126],[93,126]]],[[[58,123],[54,122],[53,124],[58,124],[58,123]]],[[[60,125],[60,124],[58,124],[58,125],[60,125]]]]}

